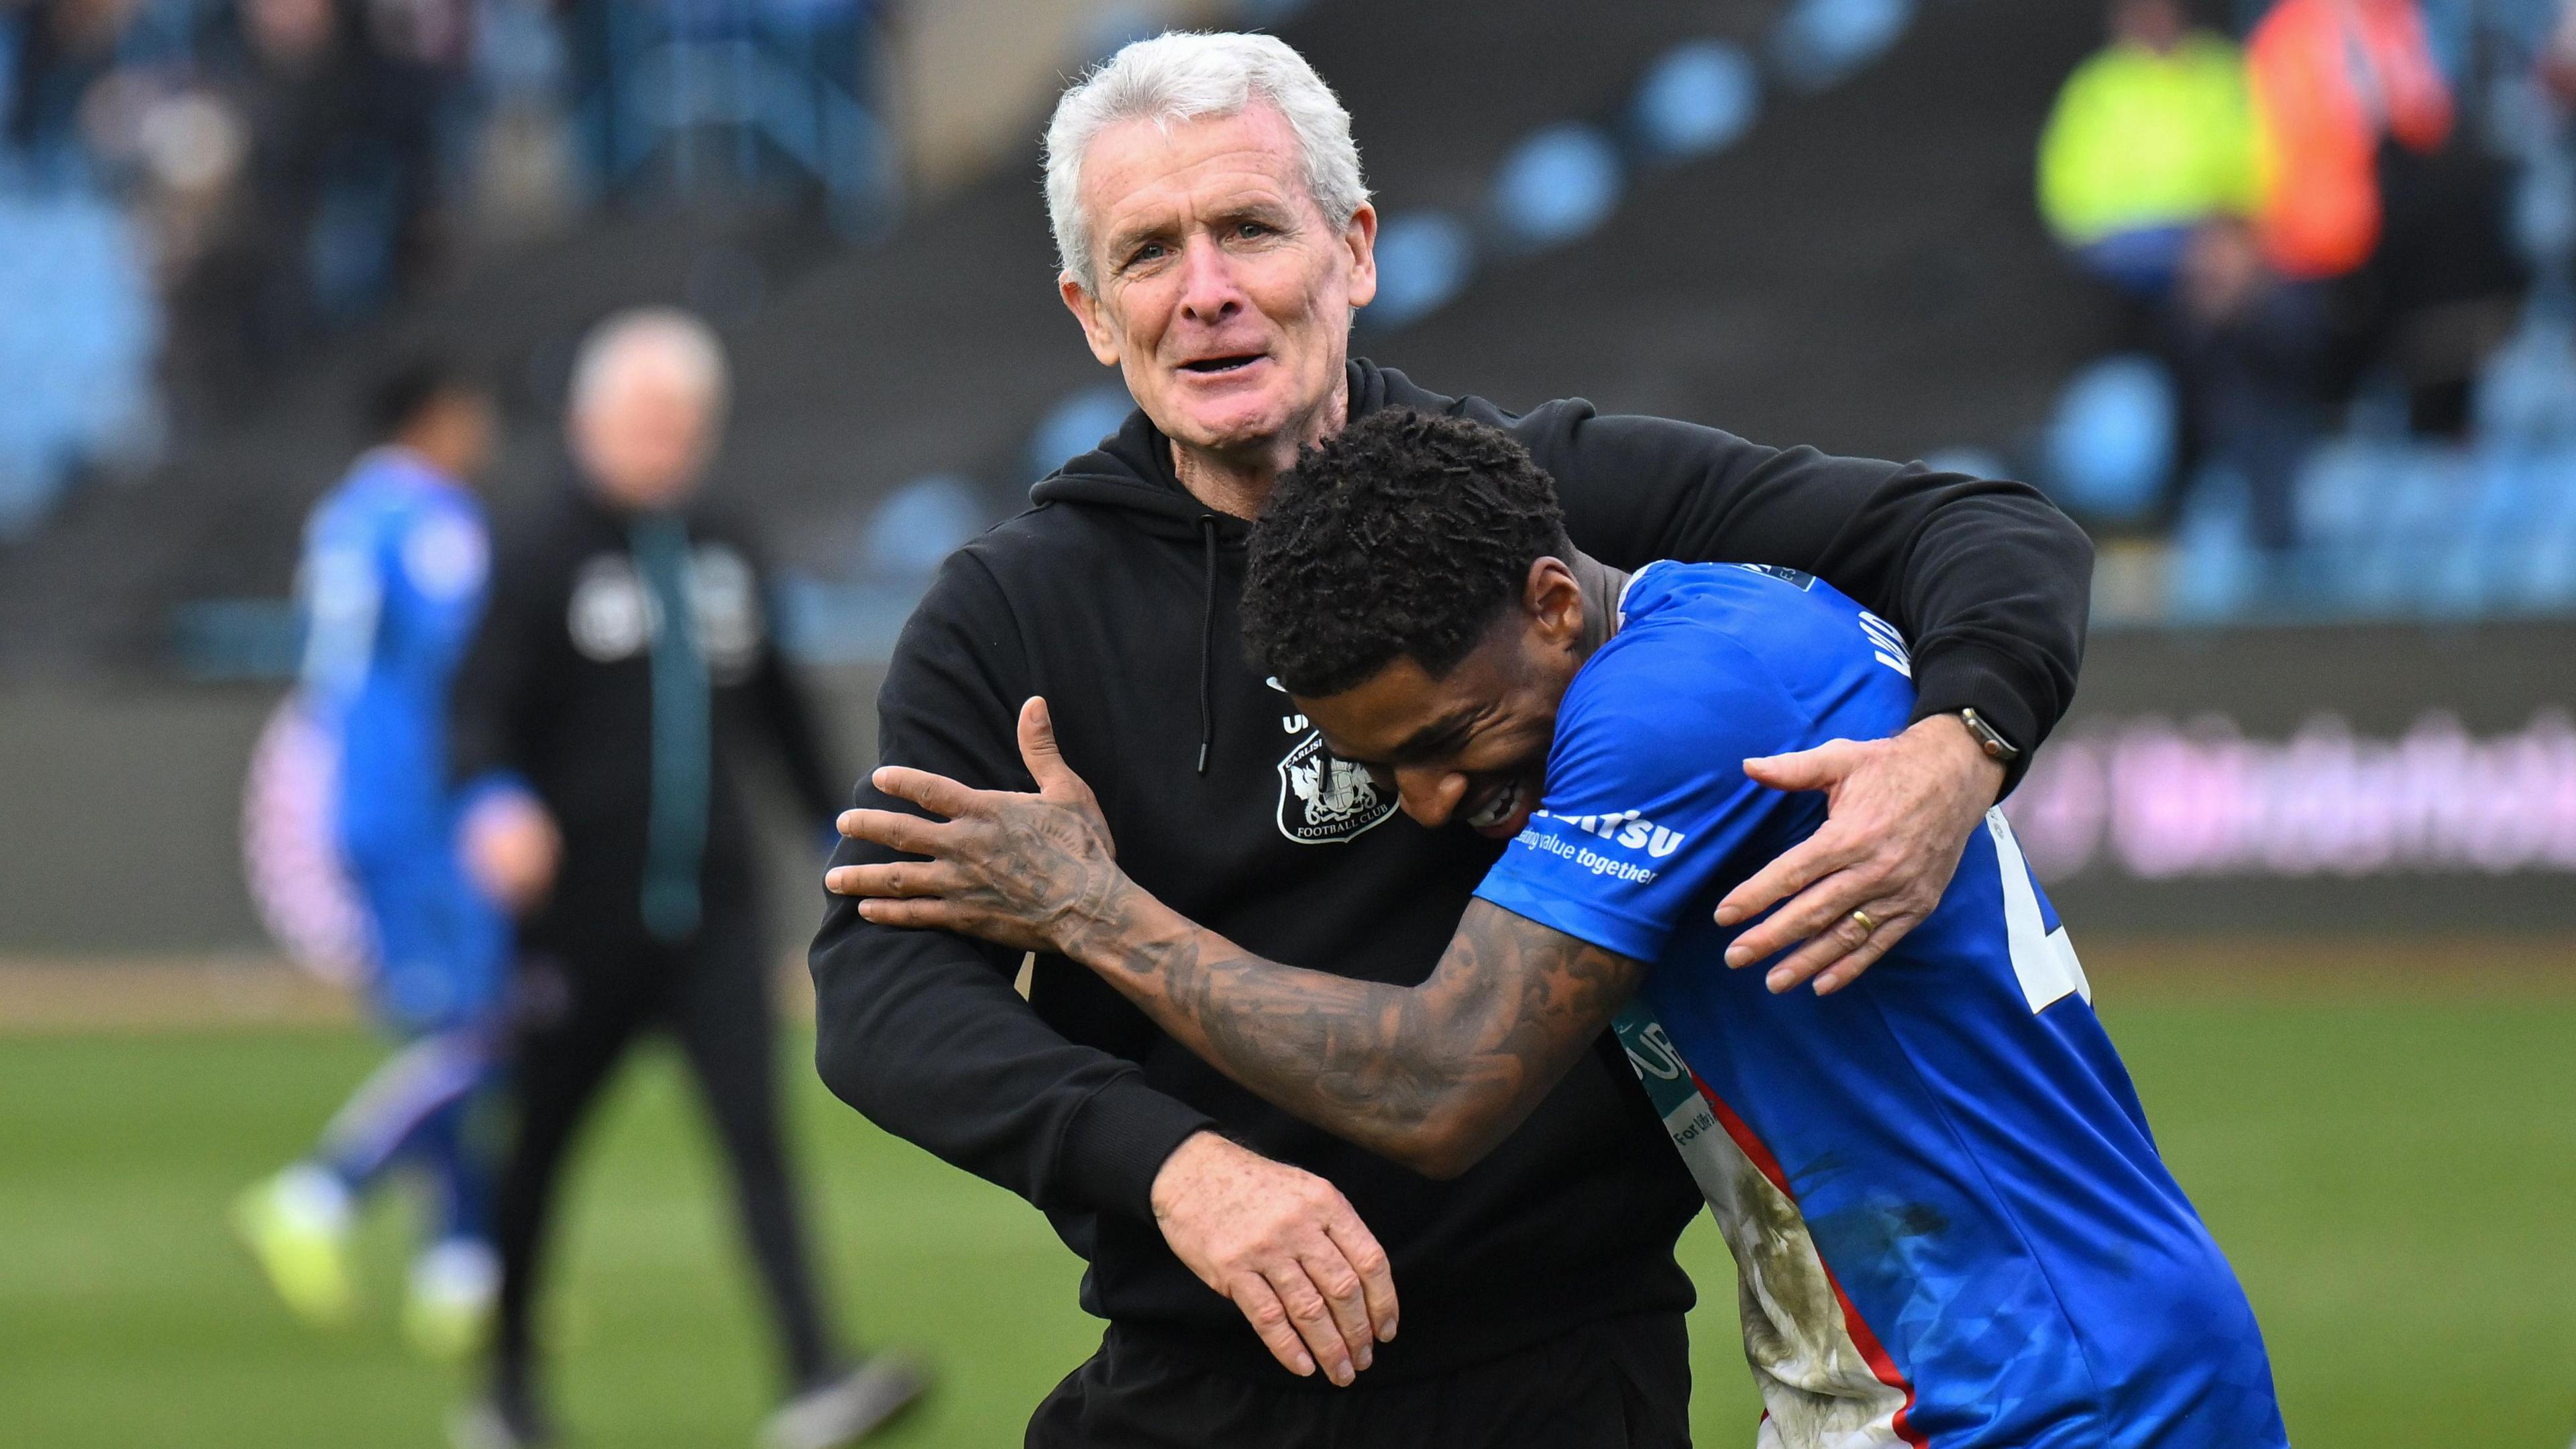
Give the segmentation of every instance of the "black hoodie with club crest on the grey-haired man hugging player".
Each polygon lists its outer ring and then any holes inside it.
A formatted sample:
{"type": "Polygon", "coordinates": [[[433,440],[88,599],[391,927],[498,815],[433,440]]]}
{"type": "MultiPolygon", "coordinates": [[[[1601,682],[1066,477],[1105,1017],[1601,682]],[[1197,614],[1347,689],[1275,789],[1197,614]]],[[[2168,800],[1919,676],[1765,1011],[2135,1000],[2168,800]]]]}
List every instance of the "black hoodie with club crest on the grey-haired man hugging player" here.
{"type": "MultiPolygon", "coordinates": [[[[1350,415],[1386,405],[1510,428],[1556,477],[1574,544],[1610,565],[1824,575],[1906,629],[1922,714],[1973,704],[2038,745],[2066,709],[2092,547],[2025,485],[1775,451],[1579,400],[1515,418],[1352,361],[1350,415]]],[[[1033,789],[1015,719],[1043,694],[1139,884],[1280,962],[1427,977],[1502,846],[1414,825],[1244,663],[1247,523],[1180,487],[1144,413],[1030,500],[958,549],[904,627],[878,694],[884,763],[1033,789]]],[[[866,781],[858,804],[902,807],[866,781]]],[[[835,853],[876,859],[891,853],[835,853]]],[[[1090,1258],[1082,1307],[1200,1361],[1293,1382],[1154,1225],[1154,1173],[1211,1127],[1329,1178],[1386,1245],[1404,1333],[1368,1382],[1692,1299],[1672,1243],[1700,1196],[1610,1036],[1484,1163],[1435,1183],[1242,1091],[1072,962],[1038,959],[1023,1003],[1018,951],[871,926],[832,900],[811,964],[824,1083],[1046,1209],[1090,1258]]]]}

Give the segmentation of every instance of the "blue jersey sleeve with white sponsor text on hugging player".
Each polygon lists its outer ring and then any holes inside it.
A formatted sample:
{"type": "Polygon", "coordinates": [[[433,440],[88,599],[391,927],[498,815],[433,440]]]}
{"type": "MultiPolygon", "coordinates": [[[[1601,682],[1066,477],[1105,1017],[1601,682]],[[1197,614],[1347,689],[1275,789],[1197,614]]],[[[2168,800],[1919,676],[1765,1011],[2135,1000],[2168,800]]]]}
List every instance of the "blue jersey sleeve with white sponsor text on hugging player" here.
{"type": "Polygon", "coordinates": [[[1556,719],[1540,810],[1476,887],[1515,915],[1654,962],[1710,890],[1775,853],[1793,812],[1744,761],[1811,722],[1744,645],[1674,629],[1595,657],[1556,719]]]}

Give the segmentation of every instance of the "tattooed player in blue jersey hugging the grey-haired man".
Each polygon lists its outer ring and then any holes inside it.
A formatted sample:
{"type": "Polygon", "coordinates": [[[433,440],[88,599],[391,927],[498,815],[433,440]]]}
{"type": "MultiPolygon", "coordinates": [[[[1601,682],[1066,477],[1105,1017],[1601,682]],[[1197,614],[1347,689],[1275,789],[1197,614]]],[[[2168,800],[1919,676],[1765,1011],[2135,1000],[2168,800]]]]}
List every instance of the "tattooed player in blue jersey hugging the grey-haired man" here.
{"type": "Polygon", "coordinates": [[[1615,1026],[1734,1250],[1762,1449],[2285,1444],[2254,1312],[2002,812],[1937,908],[1844,920],[1896,938],[1857,982],[1775,995],[1728,969],[1765,962],[1736,959],[1749,920],[1721,897],[1829,804],[1744,761],[1904,730],[1893,627],[1790,570],[1623,575],[1566,544],[1510,436],[1386,410],[1280,482],[1244,634],[1414,822],[1494,838],[1419,985],[1262,962],[1139,890],[1043,701],[1020,719],[1038,794],[878,771],[948,820],[850,812],[927,861],[832,890],[1061,951],[1255,1093],[1430,1176],[1473,1168],[1615,1026]]]}

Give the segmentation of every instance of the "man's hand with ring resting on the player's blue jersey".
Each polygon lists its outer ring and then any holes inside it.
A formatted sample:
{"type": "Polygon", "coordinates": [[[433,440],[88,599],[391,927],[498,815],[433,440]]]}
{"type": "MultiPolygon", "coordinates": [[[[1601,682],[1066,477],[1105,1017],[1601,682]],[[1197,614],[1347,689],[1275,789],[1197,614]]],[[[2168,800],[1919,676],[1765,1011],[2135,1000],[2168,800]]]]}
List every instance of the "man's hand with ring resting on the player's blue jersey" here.
{"type": "Polygon", "coordinates": [[[1736,936],[1726,964],[1749,967],[1806,941],[1765,985],[1790,990],[1814,980],[1816,995],[1852,985],[1932,915],[1968,833],[2004,789],[2004,766],[1976,748],[1955,714],[1917,719],[1893,740],[1829,740],[1744,761],[1744,773],[1772,789],[1826,792],[1826,820],[1718,902],[1718,926],[1736,926],[1788,900],[1736,936]]]}

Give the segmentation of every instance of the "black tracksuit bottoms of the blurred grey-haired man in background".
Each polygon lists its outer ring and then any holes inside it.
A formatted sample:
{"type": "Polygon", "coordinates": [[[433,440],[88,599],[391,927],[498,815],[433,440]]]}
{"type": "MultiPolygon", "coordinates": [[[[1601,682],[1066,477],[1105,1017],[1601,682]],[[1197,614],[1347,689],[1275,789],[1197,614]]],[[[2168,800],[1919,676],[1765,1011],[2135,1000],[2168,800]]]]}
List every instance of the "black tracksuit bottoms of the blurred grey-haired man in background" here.
{"type": "Polygon", "coordinates": [[[719,897],[706,905],[698,936],[680,944],[639,933],[580,949],[533,949],[520,962],[518,1132],[495,1204],[502,1261],[495,1387],[518,1403],[528,1403],[533,1390],[528,1310],[546,1263],[564,1155],[626,1047],[652,1029],[670,1031],[680,1044],[724,1142],[742,1232],[786,1348],[788,1387],[814,1387],[837,1366],[788,1186],[778,1026],[757,908],[719,897]]]}

